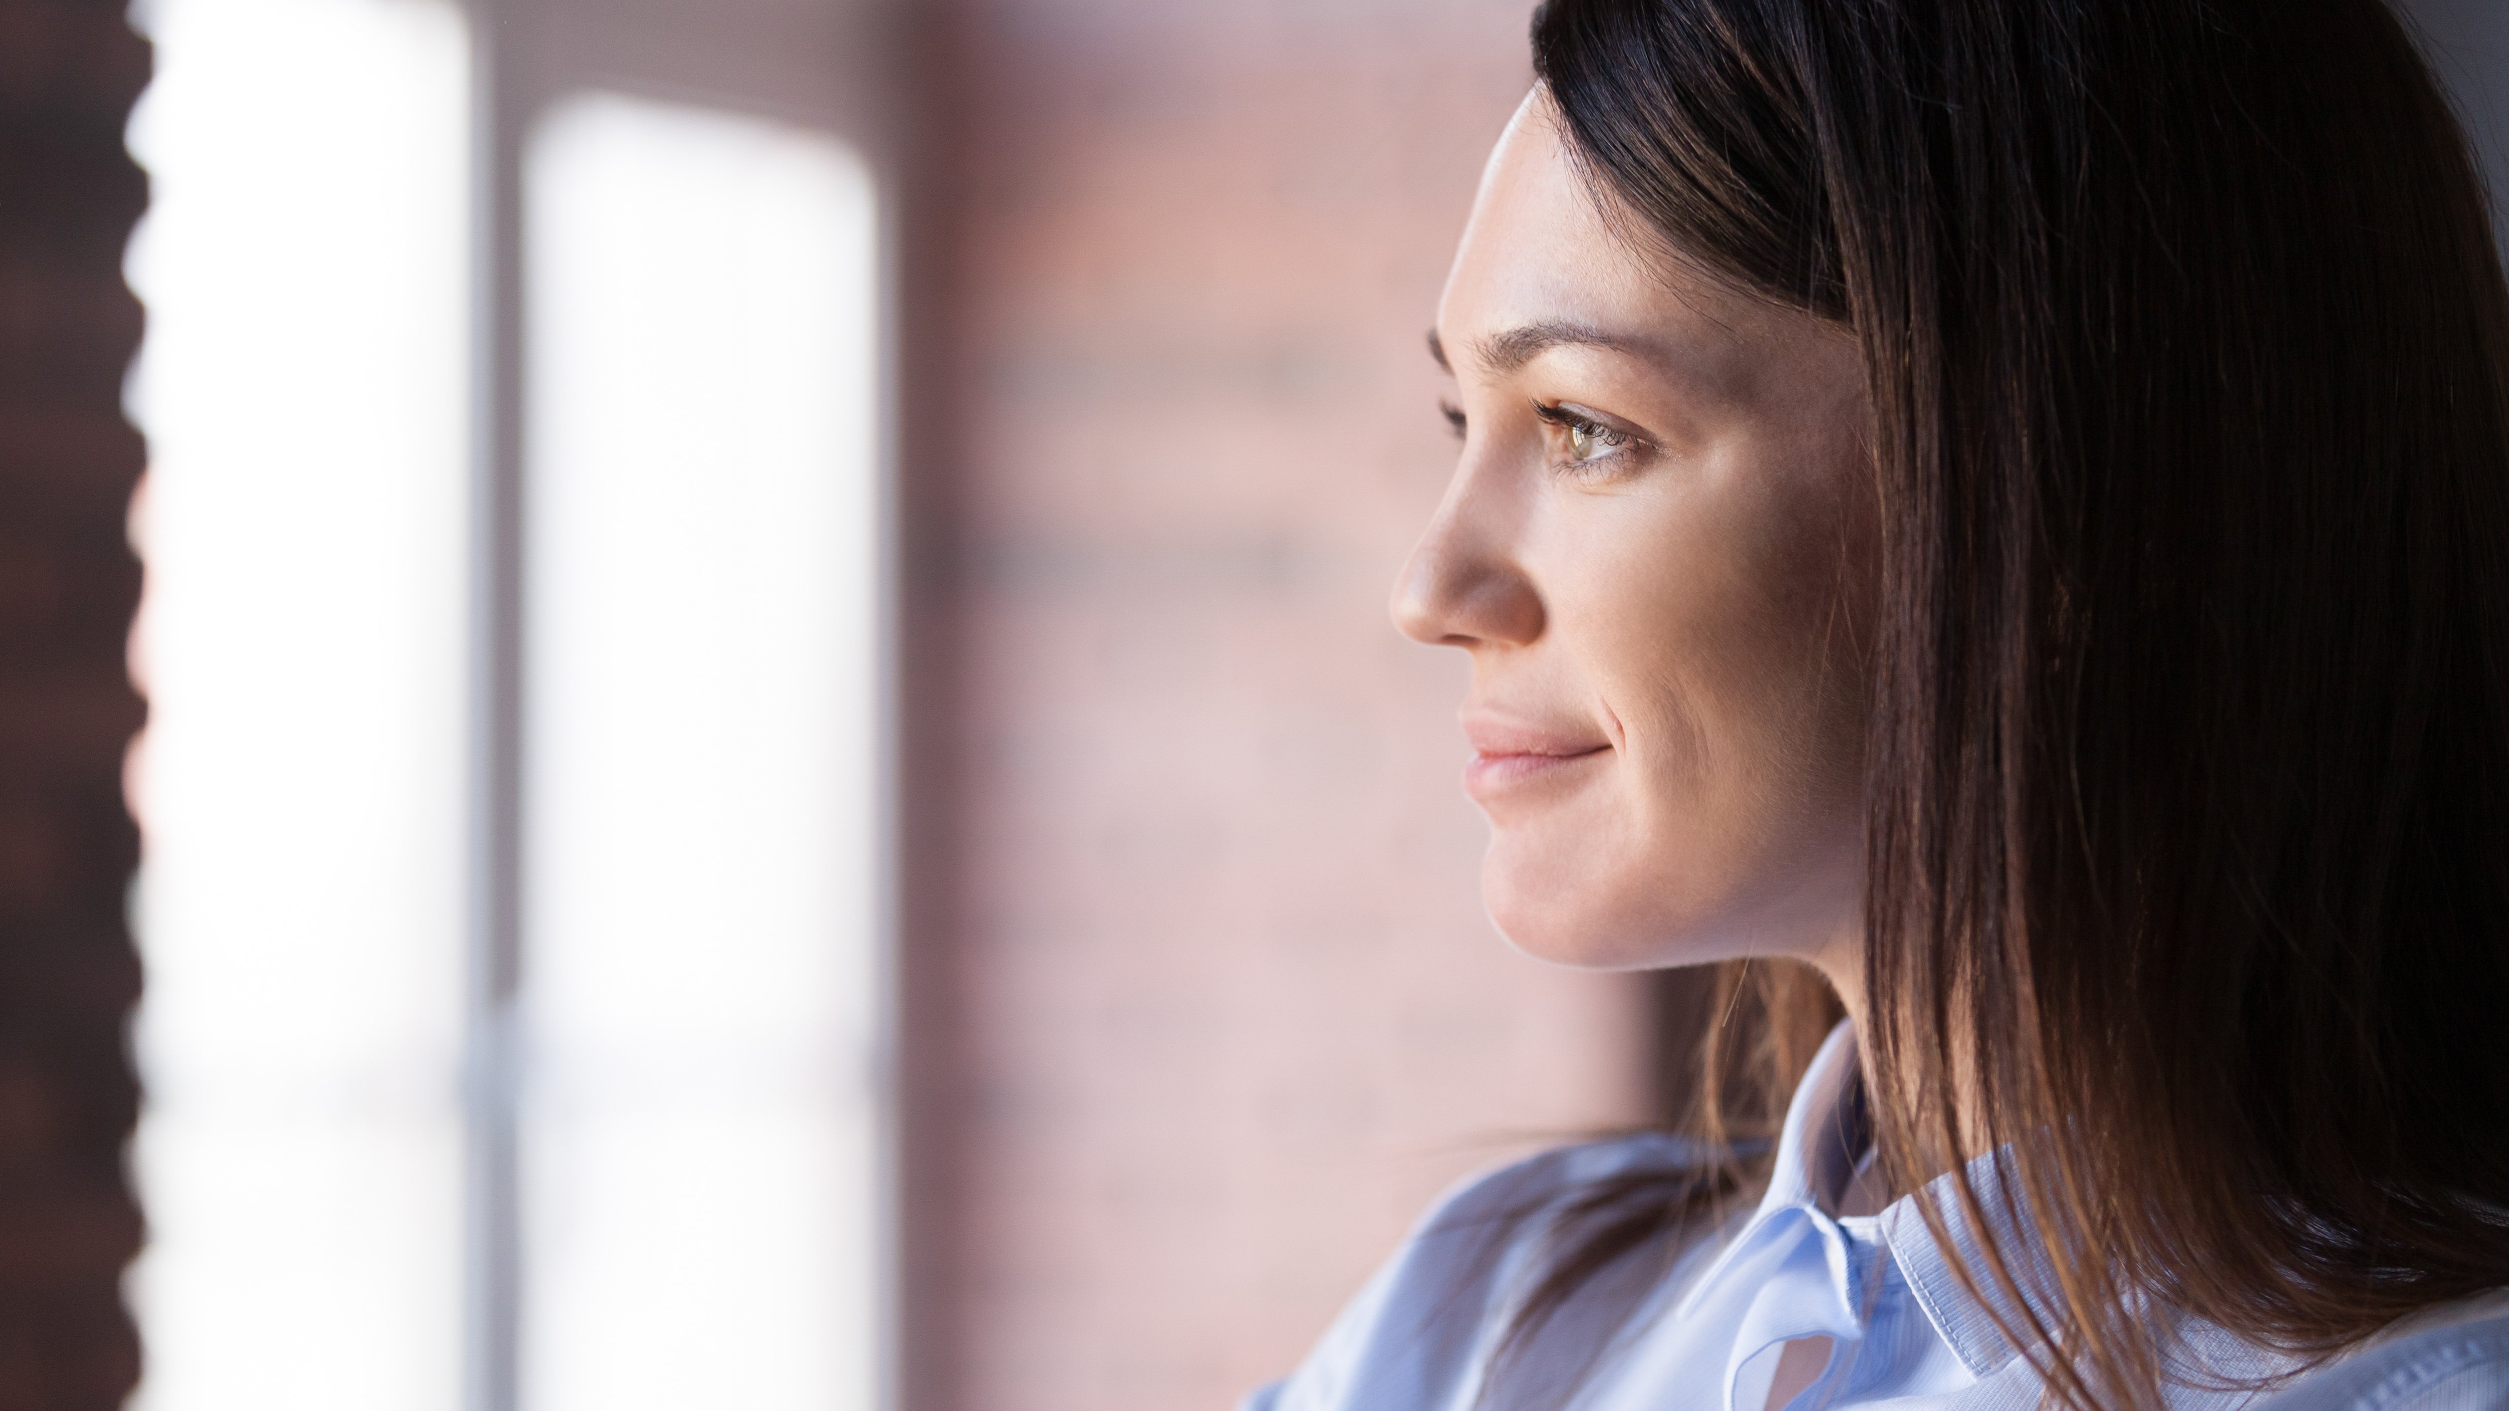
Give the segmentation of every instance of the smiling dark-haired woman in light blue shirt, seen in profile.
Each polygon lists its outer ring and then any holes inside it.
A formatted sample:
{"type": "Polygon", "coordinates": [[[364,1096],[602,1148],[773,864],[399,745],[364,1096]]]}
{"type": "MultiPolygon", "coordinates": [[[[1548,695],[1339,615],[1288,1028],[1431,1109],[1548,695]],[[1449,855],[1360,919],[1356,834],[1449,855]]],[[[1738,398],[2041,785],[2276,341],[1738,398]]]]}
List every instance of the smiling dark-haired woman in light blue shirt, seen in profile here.
{"type": "Polygon", "coordinates": [[[1395,617],[1498,925],[1724,1058],[1252,1406],[2509,1406],[2509,291],[2396,18],[1533,45],[1395,617]]]}

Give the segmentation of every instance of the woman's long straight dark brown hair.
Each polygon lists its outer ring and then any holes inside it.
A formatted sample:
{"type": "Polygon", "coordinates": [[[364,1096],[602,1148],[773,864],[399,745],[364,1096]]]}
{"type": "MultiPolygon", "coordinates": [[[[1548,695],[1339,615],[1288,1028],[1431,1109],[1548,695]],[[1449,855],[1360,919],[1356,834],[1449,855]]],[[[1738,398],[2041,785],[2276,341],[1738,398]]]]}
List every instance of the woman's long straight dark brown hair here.
{"type": "MultiPolygon", "coordinates": [[[[1548,0],[1533,55],[1628,238],[1864,351],[1867,1100],[1897,1190],[2030,1211],[1962,1268],[2050,1396],[2155,1403],[2153,1298],[2306,1358],[2509,1283],[2509,288],[2401,23],[1548,0]]],[[[1714,1135],[1837,1013],[1769,977],[1714,1135]]],[[[1518,1333],[1761,1170],[1596,1193],[1518,1333]]]]}

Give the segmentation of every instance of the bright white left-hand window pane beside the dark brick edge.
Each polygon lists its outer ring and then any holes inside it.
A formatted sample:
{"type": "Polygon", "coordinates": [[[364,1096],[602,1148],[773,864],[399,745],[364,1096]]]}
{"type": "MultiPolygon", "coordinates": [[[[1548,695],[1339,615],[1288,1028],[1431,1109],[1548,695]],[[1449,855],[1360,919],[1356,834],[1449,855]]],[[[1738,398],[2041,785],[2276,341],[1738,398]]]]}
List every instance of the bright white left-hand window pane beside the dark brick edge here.
{"type": "Polygon", "coordinates": [[[467,38],[432,0],[135,18],[138,1406],[449,1411],[467,38]]]}

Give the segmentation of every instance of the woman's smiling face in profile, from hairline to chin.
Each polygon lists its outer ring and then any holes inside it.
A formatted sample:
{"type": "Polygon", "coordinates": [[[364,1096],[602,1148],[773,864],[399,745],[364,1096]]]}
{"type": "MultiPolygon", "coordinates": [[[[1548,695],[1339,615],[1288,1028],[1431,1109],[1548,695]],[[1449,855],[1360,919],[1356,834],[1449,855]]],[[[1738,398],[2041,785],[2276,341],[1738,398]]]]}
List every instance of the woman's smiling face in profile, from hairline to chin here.
{"type": "Polygon", "coordinates": [[[1854,341],[1626,246],[1536,90],[1435,346],[1463,459],[1392,612],[1473,657],[1498,927],[1596,967],[1847,962],[1877,521],[1854,341]]]}

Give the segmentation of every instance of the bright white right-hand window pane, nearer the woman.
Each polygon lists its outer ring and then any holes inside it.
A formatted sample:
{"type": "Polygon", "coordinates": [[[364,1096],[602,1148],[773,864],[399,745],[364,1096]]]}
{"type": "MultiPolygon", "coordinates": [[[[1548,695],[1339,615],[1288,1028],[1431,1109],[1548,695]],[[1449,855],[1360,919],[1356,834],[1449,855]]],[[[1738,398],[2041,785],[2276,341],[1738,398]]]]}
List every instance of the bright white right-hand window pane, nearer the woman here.
{"type": "Polygon", "coordinates": [[[527,148],[527,1411],[878,1396],[878,246],[841,143],[527,148]]]}

